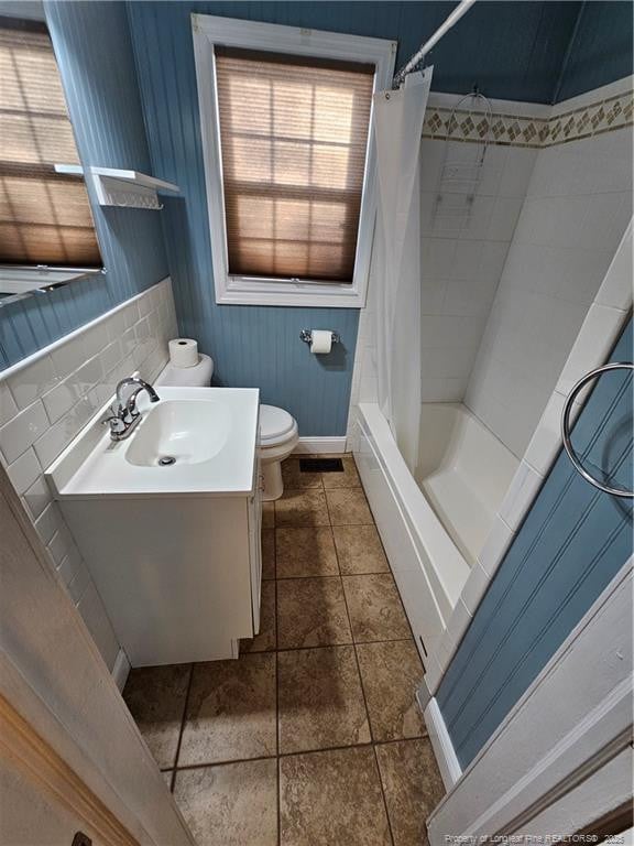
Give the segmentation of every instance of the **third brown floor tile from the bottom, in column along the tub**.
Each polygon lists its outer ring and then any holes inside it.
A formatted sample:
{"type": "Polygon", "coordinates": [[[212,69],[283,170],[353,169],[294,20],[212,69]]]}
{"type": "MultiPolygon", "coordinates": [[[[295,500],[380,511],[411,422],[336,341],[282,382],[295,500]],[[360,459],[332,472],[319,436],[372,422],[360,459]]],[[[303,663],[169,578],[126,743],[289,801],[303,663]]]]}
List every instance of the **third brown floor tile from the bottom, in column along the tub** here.
{"type": "Polygon", "coordinates": [[[342,576],[341,581],[357,642],[412,637],[398,590],[389,573],[342,576]]]}

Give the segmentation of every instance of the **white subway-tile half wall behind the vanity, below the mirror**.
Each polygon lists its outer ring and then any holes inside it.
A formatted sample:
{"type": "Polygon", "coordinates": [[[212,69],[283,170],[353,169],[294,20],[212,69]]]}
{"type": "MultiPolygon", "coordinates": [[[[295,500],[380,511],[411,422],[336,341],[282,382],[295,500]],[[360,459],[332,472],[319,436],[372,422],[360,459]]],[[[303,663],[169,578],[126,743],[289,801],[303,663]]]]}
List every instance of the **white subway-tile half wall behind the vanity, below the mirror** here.
{"type": "Polygon", "coordinates": [[[156,377],[177,334],[166,279],[0,373],[0,460],[110,669],[119,643],[43,474],[120,379],[135,370],[156,377]]]}

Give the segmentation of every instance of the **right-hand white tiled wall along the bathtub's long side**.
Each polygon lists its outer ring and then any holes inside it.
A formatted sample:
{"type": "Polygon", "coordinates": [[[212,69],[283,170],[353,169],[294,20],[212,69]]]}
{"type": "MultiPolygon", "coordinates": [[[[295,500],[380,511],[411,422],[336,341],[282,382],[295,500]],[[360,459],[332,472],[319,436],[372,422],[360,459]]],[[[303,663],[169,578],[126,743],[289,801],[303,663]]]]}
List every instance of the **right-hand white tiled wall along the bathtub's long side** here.
{"type": "Polygon", "coordinates": [[[632,217],[631,91],[630,78],[557,106],[528,184],[464,394],[518,458],[632,217]]]}

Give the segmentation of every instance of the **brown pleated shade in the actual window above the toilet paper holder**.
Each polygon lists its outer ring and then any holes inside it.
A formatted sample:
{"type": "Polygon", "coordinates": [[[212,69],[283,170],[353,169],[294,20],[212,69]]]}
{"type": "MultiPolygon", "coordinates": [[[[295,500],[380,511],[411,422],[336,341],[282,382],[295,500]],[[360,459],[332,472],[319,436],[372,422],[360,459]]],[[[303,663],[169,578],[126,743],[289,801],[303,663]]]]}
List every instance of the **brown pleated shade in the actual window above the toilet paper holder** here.
{"type": "Polygon", "coordinates": [[[352,282],[374,66],[215,54],[229,273],[352,282]]]}

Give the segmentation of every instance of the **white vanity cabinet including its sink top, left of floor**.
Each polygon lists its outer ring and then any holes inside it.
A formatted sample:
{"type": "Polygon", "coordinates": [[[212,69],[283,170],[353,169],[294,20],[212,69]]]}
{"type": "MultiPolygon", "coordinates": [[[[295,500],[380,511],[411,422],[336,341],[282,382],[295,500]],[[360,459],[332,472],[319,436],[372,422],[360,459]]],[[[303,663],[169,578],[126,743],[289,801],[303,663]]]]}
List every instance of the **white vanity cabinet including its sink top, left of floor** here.
{"type": "Polygon", "coordinates": [[[132,666],[237,658],[260,628],[259,392],[158,388],[100,420],[47,479],[132,666]]]}

